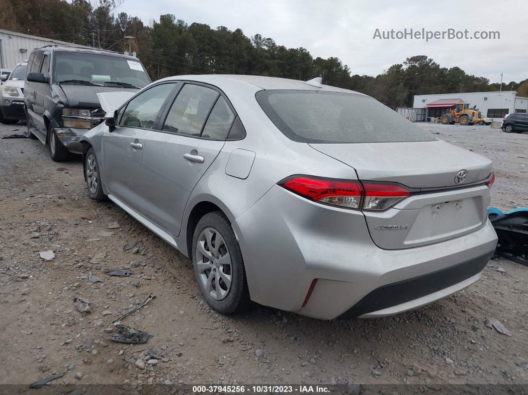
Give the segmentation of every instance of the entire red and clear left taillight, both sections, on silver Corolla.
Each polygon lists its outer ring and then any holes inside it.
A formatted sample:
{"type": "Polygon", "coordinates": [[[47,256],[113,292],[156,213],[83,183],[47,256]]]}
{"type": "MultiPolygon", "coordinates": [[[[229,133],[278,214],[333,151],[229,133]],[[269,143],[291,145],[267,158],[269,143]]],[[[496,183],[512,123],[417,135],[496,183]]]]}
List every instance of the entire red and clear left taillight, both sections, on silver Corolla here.
{"type": "Polygon", "coordinates": [[[279,185],[319,203],[369,211],[386,210],[411,195],[409,189],[397,184],[310,176],[291,176],[279,185]]]}

